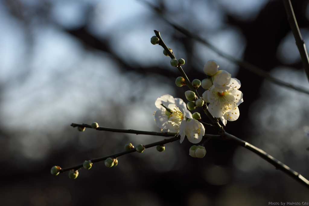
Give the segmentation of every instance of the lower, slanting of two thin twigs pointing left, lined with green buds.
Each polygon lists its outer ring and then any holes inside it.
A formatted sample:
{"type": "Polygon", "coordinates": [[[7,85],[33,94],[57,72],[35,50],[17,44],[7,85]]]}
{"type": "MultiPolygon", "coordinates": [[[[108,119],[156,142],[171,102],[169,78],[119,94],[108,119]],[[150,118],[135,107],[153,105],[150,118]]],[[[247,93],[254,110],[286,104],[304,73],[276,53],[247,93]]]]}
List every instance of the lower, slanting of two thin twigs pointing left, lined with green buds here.
{"type": "MultiPolygon", "coordinates": [[[[130,132],[127,132],[127,133],[130,133],[130,132]]],[[[154,147],[154,146],[157,146],[157,145],[164,145],[166,143],[174,142],[174,141],[177,141],[177,140],[180,140],[180,136],[173,137],[173,138],[170,138],[170,139],[165,139],[165,140],[158,141],[158,142],[154,142],[154,143],[151,143],[151,144],[148,144],[148,145],[144,145],[144,147],[147,149],[147,148],[150,148],[150,147],[154,147]]],[[[111,155],[108,155],[108,156],[105,156],[105,157],[94,158],[94,159],[91,159],[91,162],[92,163],[101,162],[101,161],[104,161],[104,160],[106,160],[107,158],[110,158],[110,157],[117,158],[117,157],[120,157],[120,156],[125,155],[125,154],[129,154],[129,153],[132,153],[132,152],[136,152],[136,149],[134,148],[134,149],[130,149],[128,151],[123,151],[123,152],[120,152],[120,153],[111,154],[111,155]]],[[[72,167],[63,168],[63,169],[61,169],[61,172],[66,172],[66,171],[73,170],[73,169],[78,170],[82,167],[83,167],[83,164],[79,164],[79,165],[75,165],[75,166],[72,166],[72,167]]]]}

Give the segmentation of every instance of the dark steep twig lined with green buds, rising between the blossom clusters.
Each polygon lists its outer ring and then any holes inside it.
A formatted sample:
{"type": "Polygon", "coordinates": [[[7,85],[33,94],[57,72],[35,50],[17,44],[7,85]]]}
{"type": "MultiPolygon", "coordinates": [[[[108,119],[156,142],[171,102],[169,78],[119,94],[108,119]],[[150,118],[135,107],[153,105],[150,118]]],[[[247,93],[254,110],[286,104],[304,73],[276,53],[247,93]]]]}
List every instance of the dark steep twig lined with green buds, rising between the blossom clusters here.
{"type": "MultiPolygon", "coordinates": [[[[162,40],[161,36],[160,36],[160,32],[157,30],[154,30],[155,35],[159,38],[159,45],[162,46],[164,48],[164,50],[167,52],[167,54],[171,57],[171,59],[176,59],[175,55],[168,49],[168,47],[166,46],[166,44],[164,43],[164,41],[162,40]]],[[[197,90],[192,86],[190,80],[188,79],[187,75],[184,73],[184,70],[182,69],[181,66],[177,66],[177,69],[179,70],[180,74],[182,75],[182,77],[184,78],[184,80],[186,81],[186,85],[189,87],[189,89],[191,91],[193,91],[195,93],[195,95],[197,95],[198,98],[201,98],[200,95],[197,93],[197,90]]],[[[203,110],[205,112],[205,114],[208,116],[208,118],[212,121],[212,123],[214,124],[216,130],[220,133],[223,134],[224,129],[223,127],[219,124],[219,121],[217,118],[215,118],[214,116],[212,116],[210,114],[210,112],[208,111],[208,107],[206,105],[206,103],[203,105],[203,110]]]]}

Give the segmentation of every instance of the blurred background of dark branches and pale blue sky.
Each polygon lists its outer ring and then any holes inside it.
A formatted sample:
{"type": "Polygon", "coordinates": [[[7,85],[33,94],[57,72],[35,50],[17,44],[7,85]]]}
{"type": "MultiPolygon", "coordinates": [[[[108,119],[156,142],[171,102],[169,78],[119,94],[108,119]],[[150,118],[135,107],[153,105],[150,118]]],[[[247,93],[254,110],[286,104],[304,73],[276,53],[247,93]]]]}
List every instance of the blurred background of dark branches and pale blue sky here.
{"type": "MultiPolygon", "coordinates": [[[[221,51],[309,89],[281,0],[147,0],[221,51]]],[[[309,42],[308,1],[292,0],[309,42]]],[[[244,102],[226,131],[260,147],[309,179],[309,95],[276,86],[176,31],[137,0],[0,1],[1,205],[260,206],[308,202],[308,189],[254,153],[230,142],[209,141],[203,159],[188,141],[118,158],[115,168],[96,163],[53,176],[50,168],[123,151],[163,137],[78,132],[74,123],[159,131],[155,100],[185,99],[178,70],[153,30],[189,79],[206,78],[214,59],[238,78],[244,102]]],[[[309,48],[309,44],[307,44],[309,48]]],[[[203,89],[198,89],[202,94],[203,89]]],[[[206,122],[207,117],[197,109],[206,122]]],[[[206,129],[207,133],[214,134],[206,129]]]]}

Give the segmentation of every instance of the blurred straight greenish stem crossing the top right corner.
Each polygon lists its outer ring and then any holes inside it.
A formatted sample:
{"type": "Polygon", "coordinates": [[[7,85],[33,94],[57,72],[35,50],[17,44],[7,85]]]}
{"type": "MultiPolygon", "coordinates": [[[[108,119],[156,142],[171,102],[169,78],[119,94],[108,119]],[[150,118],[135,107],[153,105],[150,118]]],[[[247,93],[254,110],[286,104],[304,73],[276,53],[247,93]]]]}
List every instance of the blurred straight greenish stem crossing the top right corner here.
{"type": "Polygon", "coordinates": [[[292,33],[294,35],[300,57],[302,58],[303,66],[307,74],[307,79],[309,81],[309,58],[306,50],[305,41],[303,40],[303,37],[300,34],[291,1],[283,0],[283,3],[284,7],[286,8],[286,14],[288,15],[288,21],[290,23],[290,27],[292,29],[292,33]]]}

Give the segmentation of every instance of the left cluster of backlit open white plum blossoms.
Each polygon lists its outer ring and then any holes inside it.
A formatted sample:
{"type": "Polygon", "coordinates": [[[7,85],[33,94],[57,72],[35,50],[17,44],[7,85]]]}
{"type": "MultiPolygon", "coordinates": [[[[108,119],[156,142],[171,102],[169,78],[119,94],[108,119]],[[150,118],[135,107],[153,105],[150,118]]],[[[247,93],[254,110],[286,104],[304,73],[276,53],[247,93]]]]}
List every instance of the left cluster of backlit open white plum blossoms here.
{"type": "Polygon", "coordinates": [[[155,122],[161,130],[178,133],[180,143],[184,141],[185,136],[194,144],[202,140],[205,128],[192,118],[182,99],[163,95],[155,101],[155,106],[159,109],[155,112],[155,122]]]}

